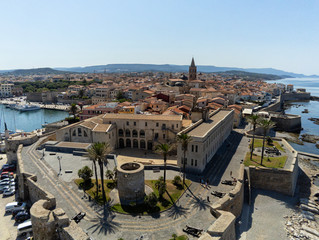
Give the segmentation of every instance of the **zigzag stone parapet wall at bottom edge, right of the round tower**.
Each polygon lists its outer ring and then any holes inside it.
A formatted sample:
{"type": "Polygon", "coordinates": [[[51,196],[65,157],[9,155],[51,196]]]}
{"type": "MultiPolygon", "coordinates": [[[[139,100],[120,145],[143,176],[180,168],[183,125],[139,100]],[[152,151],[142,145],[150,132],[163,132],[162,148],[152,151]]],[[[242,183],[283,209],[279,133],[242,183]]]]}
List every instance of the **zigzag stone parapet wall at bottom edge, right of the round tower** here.
{"type": "Polygon", "coordinates": [[[235,188],[211,205],[211,213],[217,219],[199,240],[236,239],[235,221],[244,204],[244,171],[245,167],[241,164],[235,188]]]}

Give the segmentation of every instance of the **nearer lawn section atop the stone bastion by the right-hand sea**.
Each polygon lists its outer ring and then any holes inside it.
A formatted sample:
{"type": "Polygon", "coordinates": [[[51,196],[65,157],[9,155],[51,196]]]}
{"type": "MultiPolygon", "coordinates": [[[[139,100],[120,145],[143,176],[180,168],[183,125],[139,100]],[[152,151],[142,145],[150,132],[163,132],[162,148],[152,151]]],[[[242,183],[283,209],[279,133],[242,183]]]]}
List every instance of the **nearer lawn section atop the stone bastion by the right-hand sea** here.
{"type": "MultiPolygon", "coordinates": [[[[244,165],[248,166],[261,166],[260,165],[261,156],[257,156],[253,154],[253,159],[250,160],[250,152],[246,153],[244,165]]],[[[268,157],[264,156],[263,158],[263,167],[269,168],[283,168],[285,166],[287,160],[287,156],[279,156],[279,157],[268,157]]]]}

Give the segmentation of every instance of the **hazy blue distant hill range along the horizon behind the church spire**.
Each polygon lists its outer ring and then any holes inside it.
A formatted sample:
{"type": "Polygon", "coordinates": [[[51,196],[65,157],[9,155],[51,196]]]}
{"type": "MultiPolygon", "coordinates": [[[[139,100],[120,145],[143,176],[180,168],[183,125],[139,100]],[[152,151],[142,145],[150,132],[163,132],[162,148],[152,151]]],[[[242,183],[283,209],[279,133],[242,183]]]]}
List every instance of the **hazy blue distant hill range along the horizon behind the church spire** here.
{"type": "MultiPolygon", "coordinates": [[[[74,67],[74,68],[55,68],[57,70],[72,71],[72,72],[188,72],[188,65],[172,65],[172,64],[107,64],[88,67],[74,67]]],[[[297,74],[286,72],[274,68],[233,68],[233,67],[216,67],[216,66],[197,66],[199,72],[226,72],[226,71],[244,71],[252,73],[273,74],[281,77],[319,77],[317,75],[306,76],[304,74],[297,74]]]]}

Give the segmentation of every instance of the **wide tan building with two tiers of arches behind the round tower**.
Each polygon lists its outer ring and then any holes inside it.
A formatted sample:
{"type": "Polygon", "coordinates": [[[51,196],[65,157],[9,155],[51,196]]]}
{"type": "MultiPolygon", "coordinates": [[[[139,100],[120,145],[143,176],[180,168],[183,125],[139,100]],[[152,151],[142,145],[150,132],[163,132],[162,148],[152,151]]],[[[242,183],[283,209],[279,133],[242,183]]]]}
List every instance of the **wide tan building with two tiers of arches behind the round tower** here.
{"type": "Polygon", "coordinates": [[[108,142],[113,148],[152,150],[174,142],[182,130],[181,115],[105,114],[57,130],[57,141],[108,142]]]}

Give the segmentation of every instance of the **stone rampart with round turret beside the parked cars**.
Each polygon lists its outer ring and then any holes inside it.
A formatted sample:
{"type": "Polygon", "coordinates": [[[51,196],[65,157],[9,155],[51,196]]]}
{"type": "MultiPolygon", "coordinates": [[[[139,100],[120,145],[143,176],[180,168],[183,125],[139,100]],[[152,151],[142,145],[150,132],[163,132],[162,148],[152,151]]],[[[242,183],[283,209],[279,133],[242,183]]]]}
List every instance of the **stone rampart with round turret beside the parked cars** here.
{"type": "Polygon", "coordinates": [[[17,178],[19,198],[31,201],[33,236],[37,240],[88,240],[87,234],[70,221],[63,209],[56,208],[55,197],[38,183],[37,176],[25,171],[21,157],[23,145],[17,149],[17,178]]]}

